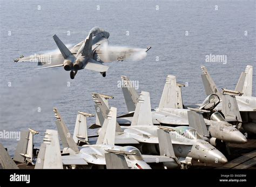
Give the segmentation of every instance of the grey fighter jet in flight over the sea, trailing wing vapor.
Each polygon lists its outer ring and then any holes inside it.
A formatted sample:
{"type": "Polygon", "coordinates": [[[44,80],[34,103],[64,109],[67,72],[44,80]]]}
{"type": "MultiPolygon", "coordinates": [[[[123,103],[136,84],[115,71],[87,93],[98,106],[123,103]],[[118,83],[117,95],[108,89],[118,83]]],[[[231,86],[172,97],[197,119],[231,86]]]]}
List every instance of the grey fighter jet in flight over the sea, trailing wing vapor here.
{"type": "Polygon", "coordinates": [[[21,56],[14,61],[37,61],[38,65],[44,66],[38,69],[63,66],[64,70],[70,71],[71,79],[75,78],[78,70],[83,69],[100,72],[103,77],[105,77],[109,67],[103,65],[103,63],[123,61],[128,58],[139,60],[144,58],[146,56],[146,52],[151,48],[131,49],[127,47],[109,46],[109,36],[110,33],[104,29],[93,27],[85,40],[71,48],[68,48],[55,34],[53,39],[55,40],[61,54],[45,53],[35,54],[35,56],[30,57],[21,56]]]}

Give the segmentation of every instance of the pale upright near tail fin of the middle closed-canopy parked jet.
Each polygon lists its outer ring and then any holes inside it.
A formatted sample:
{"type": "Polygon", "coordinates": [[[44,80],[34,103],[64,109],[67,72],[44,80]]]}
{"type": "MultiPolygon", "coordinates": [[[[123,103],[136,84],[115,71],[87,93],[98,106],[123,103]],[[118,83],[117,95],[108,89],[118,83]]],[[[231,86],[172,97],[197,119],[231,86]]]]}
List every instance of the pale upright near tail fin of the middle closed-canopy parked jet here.
{"type": "Polygon", "coordinates": [[[139,95],[131,123],[131,126],[136,125],[153,125],[149,92],[142,92],[139,95]]]}

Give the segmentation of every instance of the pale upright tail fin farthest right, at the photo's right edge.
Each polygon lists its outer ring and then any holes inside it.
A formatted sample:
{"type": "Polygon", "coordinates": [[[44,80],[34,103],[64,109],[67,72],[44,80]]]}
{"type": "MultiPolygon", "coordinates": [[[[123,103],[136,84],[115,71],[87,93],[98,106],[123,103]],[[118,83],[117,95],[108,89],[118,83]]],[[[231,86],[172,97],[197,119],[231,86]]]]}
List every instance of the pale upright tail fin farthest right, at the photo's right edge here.
{"type": "Polygon", "coordinates": [[[242,93],[244,93],[245,96],[252,96],[252,74],[253,74],[253,67],[250,65],[247,65],[245,68],[245,82],[244,86],[242,88],[242,93]]]}

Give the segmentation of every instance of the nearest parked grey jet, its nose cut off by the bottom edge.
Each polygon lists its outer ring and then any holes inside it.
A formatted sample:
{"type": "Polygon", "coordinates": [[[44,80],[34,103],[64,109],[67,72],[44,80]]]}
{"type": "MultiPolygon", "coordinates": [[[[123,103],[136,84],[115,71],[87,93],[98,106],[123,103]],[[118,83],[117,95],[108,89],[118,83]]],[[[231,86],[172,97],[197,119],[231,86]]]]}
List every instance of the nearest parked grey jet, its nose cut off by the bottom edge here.
{"type": "MultiPolygon", "coordinates": [[[[62,156],[64,165],[76,165],[77,167],[80,166],[83,168],[104,168],[104,165],[106,165],[106,153],[123,155],[127,165],[131,169],[150,169],[150,166],[147,163],[173,162],[173,158],[169,156],[141,155],[136,147],[115,146],[117,109],[114,107],[109,110],[107,119],[104,120],[103,128],[99,131],[96,144],[84,144],[82,147],[76,145],[56,108],[54,109],[54,112],[57,118],[57,129],[64,147],[63,154],[69,154],[62,156]]],[[[127,140],[130,139],[131,138],[128,138],[127,140]]],[[[89,142],[90,141],[87,143],[89,142]]],[[[166,150],[168,149],[169,148],[166,148],[166,150]]]]}

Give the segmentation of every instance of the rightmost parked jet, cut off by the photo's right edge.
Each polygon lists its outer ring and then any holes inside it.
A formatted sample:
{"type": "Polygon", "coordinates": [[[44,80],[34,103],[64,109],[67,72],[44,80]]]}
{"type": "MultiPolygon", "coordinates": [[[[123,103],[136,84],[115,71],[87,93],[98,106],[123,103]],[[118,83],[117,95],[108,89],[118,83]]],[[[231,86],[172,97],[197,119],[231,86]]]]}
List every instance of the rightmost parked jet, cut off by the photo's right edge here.
{"type": "MultiPolygon", "coordinates": [[[[220,101],[220,104],[217,106],[217,110],[222,110],[224,115],[231,110],[234,106],[237,105],[238,113],[233,114],[233,118],[240,119],[242,122],[242,128],[250,133],[256,133],[256,97],[252,96],[252,74],[253,67],[246,66],[245,72],[242,72],[235,87],[235,91],[230,91],[228,89],[223,89],[223,92],[220,92],[217,85],[215,85],[213,79],[208,73],[205,66],[201,66],[203,74],[201,78],[203,80],[205,92],[207,95],[215,94],[220,98],[225,98],[228,95],[233,95],[233,99],[230,97],[227,102],[224,102],[224,99],[220,101]],[[226,96],[225,96],[226,95],[226,96]],[[236,101],[235,101],[236,100],[236,101]],[[223,111],[224,110],[224,111],[223,111]]],[[[234,108],[236,109],[236,108],[234,108]]],[[[235,112],[235,111],[234,111],[235,112]]],[[[230,120],[232,121],[232,120],[230,120]]],[[[240,126],[238,126],[240,128],[240,126]]]]}

